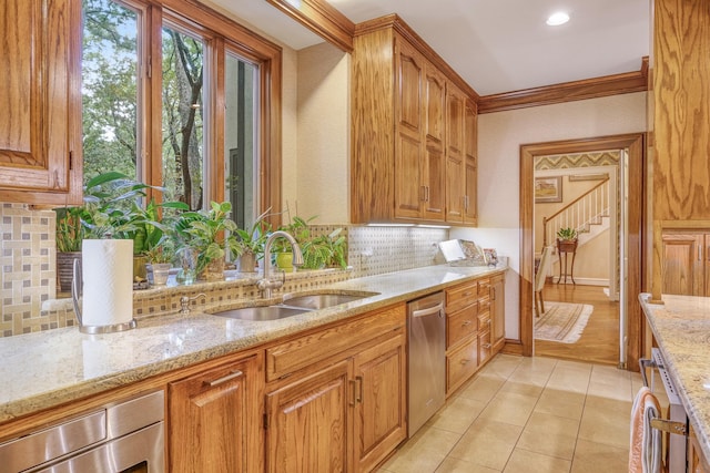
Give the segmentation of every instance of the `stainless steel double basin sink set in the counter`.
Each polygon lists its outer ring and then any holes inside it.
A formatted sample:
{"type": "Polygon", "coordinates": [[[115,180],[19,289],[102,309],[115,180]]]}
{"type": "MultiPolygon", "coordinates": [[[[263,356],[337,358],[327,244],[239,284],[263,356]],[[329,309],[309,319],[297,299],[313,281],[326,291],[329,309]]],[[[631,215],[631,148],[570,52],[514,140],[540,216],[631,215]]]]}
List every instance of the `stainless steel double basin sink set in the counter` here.
{"type": "Polygon", "coordinates": [[[285,296],[281,304],[273,306],[244,307],[241,309],[214,312],[213,316],[231,319],[266,321],[280,320],[303,312],[339,306],[354,300],[377,296],[378,292],[318,292],[308,295],[285,296]]]}

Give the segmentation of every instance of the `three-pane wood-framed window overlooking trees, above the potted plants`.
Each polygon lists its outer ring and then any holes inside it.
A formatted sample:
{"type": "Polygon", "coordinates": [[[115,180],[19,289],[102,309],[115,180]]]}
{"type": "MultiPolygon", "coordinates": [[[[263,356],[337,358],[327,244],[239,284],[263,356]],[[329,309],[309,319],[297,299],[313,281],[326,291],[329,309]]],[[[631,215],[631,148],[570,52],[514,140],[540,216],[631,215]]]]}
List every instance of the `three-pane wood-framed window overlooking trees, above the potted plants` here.
{"type": "Polygon", "coordinates": [[[229,199],[242,227],[276,214],[280,48],[164,1],[83,0],[84,181],[120,171],[193,209],[229,199]]]}

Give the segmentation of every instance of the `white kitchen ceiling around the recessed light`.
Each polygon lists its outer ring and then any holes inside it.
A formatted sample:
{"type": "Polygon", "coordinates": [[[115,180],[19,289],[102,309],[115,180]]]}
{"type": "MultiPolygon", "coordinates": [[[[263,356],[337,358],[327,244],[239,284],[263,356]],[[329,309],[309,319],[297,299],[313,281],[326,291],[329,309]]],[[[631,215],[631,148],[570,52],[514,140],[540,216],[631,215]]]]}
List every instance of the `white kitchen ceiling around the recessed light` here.
{"type": "MultiPolygon", "coordinates": [[[[206,0],[300,50],[322,39],[266,0],[206,0]]],[[[397,13],[479,95],[635,72],[649,54],[648,0],[329,0],[358,23],[397,13]],[[548,27],[555,11],[570,21],[548,27]]]]}

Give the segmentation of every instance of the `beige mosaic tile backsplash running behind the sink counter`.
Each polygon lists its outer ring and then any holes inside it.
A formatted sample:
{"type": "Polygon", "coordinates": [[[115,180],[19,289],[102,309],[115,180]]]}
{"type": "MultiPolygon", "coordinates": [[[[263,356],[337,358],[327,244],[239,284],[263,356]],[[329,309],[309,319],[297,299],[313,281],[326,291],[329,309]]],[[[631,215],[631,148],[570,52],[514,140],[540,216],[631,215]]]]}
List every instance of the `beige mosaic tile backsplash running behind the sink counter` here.
{"type": "MultiPolygon", "coordinates": [[[[69,299],[57,298],[55,218],[52,210],[32,210],[21,204],[0,204],[2,240],[2,311],[0,337],[50,330],[77,325],[69,299]]],[[[412,269],[442,263],[437,243],[448,239],[448,229],[422,227],[366,227],[314,225],[313,235],[343,228],[348,241],[346,271],[301,271],[290,274],[277,294],[313,290],[364,276],[412,269]]],[[[229,275],[229,274],[227,274],[229,275]]],[[[235,304],[258,297],[256,276],[231,275],[227,281],[135,291],[134,317],[172,313],[180,309],[181,296],[205,292],[201,308],[235,304]],[[254,279],[254,280],[252,280],[254,279]],[[202,306],[204,305],[204,306],[202,306]]],[[[193,302],[193,305],[200,301],[193,302]]]]}

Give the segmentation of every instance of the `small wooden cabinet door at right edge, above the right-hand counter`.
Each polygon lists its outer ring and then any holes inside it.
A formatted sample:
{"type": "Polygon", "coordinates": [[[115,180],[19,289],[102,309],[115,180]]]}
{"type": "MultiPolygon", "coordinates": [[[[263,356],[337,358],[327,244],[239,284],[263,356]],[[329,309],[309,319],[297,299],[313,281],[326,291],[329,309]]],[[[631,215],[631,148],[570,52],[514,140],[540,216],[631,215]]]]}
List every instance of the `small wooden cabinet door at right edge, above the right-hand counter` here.
{"type": "Polygon", "coordinates": [[[663,233],[663,294],[704,295],[703,243],[699,233],[663,233]]]}

